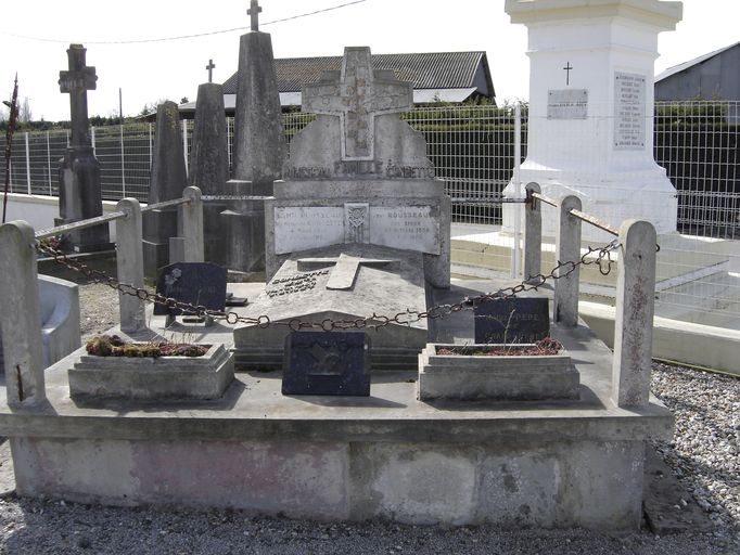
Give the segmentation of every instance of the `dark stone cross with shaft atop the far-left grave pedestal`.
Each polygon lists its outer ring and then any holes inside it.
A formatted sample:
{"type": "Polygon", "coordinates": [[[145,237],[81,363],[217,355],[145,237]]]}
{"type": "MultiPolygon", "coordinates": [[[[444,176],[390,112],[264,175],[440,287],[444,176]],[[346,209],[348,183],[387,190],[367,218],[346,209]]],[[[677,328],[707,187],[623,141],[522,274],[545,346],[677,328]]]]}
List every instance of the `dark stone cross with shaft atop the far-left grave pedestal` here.
{"type": "Polygon", "coordinates": [[[82,44],[69,44],[67,56],[69,69],[59,73],[60,91],[69,93],[72,111],[72,146],[88,146],[88,95],[95,89],[98,76],[94,67],[85,65],[87,49],[82,44]]]}

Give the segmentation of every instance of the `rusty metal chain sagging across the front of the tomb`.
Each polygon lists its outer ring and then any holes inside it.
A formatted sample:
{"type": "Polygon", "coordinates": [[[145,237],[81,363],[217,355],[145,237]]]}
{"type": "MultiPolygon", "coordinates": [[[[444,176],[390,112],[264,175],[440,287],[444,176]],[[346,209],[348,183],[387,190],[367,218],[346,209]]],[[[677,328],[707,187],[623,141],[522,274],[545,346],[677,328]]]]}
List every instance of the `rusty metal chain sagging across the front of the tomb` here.
{"type": "Polygon", "coordinates": [[[69,270],[79,272],[89,280],[92,280],[97,283],[104,283],[124,295],[132,295],[141,300],[171,309],[178,309],[200,318],[209,317],[214,320],[225,320],[229,324],[253,324],[261,328],[267,328],[270,326],[283,326],[289,327],[294,332],[299,330],[317,328],[323,330],[324,332],[330,332],[332,330],[378,330],[390,324],[410,325],[424,319],[434,320],[438,318],[445,318],[462,310],[472,310],[480,302],[508,299],[515,297],[520,293],[537,291],[547,281],[566,278],[567,275],[575,272],[579,266],[597,264],[601,274],[608,275],[611,272],[613,263],[611,253],[618,246],[620,242],[617,240],[612,241],[603,247],[589,246],[580,259],[566,262],[558,261],[558,264],[548,274],[539,273],[537,275],[531,275],[518,285],[503,287],[494,293],[486,293],[474,297],[464,297],[459,302],[454,305],[437,305],[423,311],[406,309],[404,312],[398,312],[392,317],[377,314],[373,312],[372,315],[366,318],[348,320],[332,320],[328,318],[321,322],[310,322],[294,318],[289,321],[273,322],[267,314],[261,314],[259,317],[244,317],[233,311],[226,312],[221,310],[210,310],[203,306],[191,305],[171,297],[165,297],[158,293],[151,293],[142,287],[135,287],[130,284],[120,283],[116,278],[110,276],[100,270],[93,270],[84,262],[67,257],[64,253],[56,250],[48,244],[41,242],[36,243],[36,248],[40,253],[53,258],[55,262],[68,268],[69,270]]]}

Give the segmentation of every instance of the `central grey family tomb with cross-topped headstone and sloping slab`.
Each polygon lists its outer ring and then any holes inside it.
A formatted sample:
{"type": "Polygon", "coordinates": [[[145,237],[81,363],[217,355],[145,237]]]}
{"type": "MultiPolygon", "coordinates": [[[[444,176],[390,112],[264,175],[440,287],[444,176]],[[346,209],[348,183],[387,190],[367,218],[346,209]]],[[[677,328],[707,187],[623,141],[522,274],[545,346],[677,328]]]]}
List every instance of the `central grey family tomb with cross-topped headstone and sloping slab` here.
{"type": "MultiPolygon", "coordinates": [[[[423,311],[426,287],[450,283],[450,202],[423,137],[398,117],[411,83],[373,70],[369,48],[347,48],[342,70],[303,99],[318,117],[293,139],[286,180],[266,202],[269,282],[247,313],[322,322],[423,311]]],[[[279,367],[289,332],[238,327],[238,363],[279,367]]],[[[426,334],[425,321],[373,332],[372,366],[412,362],[426,334]]]]}

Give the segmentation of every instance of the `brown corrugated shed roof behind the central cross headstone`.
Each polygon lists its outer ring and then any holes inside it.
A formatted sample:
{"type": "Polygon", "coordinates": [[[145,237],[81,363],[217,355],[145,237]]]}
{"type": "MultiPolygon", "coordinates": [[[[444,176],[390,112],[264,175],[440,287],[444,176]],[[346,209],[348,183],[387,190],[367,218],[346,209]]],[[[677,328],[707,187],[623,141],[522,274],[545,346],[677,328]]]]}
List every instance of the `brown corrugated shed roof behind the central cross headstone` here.
{"type": "MultiPolygon", "coordinates": [[[[419,54],[373,54],[375,69],[392,69],[403,81],[413,82],[414,89],[465,89],[475,87],[475,73],[484,63],[486,80],[493,96],[485,52],[428,52],[419,54]]],[[[342,56],[285,57],[275,61],[280,92],[298,92],[303,85],[316,82],[326,70],[342,68],[342,56]]],[[[237,74],[224,83],[226,94],[237,93],[237,74]]]]}

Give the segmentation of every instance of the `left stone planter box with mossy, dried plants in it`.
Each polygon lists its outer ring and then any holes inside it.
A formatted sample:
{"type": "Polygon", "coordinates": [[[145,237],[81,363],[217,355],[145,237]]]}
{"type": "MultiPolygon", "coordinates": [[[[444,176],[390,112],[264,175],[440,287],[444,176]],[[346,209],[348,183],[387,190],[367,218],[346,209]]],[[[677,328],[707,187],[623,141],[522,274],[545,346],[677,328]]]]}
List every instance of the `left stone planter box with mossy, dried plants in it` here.
{"type": "Polygon", "coordinates": [[[95,357],[68,371],[76,398],[217,399],[233,380],[233,354],[214,344],[202,357],[95,357]]]}

